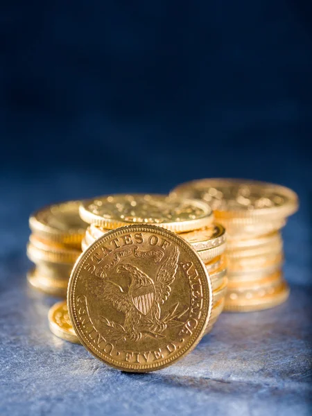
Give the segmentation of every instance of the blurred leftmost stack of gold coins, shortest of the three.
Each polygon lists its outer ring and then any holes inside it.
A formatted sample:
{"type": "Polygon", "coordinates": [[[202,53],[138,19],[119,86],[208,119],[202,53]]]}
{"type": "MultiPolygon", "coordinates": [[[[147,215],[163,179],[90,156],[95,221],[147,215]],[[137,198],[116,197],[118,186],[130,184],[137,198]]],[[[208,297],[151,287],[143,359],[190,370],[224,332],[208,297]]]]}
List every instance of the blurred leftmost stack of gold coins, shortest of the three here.
{"type": "Polygon", "coordinates": [[[80,201],[62,202],[44,207],[29,218],[32,234],[27,255],[35,267],[28,272],[27,279],[33,288],[66,297],[86,228],[78,214],[79,206],[80,201]]]}

